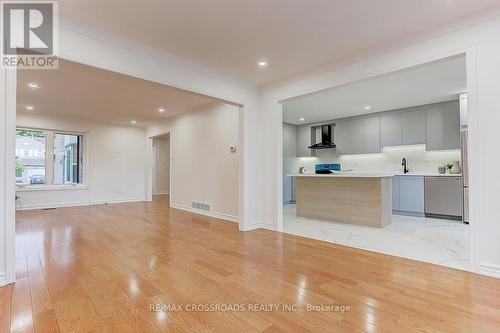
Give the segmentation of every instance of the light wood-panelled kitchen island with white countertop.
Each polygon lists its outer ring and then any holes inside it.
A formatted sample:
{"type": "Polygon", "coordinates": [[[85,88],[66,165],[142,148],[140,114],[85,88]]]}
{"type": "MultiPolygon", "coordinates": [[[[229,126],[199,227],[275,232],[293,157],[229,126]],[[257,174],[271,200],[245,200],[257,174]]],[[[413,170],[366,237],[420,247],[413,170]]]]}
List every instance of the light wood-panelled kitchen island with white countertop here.
{"type": "Polygon", "coordinates": [[[382,228],[391,223],[393,174],[290,174],[297,216],[382,228]]]}

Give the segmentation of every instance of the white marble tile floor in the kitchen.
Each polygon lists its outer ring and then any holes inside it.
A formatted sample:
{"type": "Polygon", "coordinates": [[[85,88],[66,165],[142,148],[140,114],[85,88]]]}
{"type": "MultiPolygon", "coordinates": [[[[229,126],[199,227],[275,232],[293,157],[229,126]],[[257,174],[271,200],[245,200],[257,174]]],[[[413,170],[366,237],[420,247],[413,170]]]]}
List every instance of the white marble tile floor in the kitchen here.
{"type": "Polygon", "coordinates": [[[297,217],[293,204],[283,220],[285,233],[470,270],[469,226],[460,221],[393,215],[378,229],[297,217]]]}

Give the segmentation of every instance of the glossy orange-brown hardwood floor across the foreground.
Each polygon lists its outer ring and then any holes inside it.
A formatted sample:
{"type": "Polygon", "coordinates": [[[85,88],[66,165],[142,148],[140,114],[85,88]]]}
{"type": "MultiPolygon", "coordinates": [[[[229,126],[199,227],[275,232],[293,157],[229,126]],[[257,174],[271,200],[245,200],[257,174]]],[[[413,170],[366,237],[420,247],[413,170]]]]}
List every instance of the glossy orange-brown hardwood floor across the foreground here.
{"type": "Polygon", "coordinates": [[[17,282],[0,288],[0,332],[500,332],[500,280],[241,233],[167,199],[19,213],[17,282]],[[259,303],[299,308],[250,311],[259,303]],[[350,311],[297,311],[307,304],[350,311]]]}

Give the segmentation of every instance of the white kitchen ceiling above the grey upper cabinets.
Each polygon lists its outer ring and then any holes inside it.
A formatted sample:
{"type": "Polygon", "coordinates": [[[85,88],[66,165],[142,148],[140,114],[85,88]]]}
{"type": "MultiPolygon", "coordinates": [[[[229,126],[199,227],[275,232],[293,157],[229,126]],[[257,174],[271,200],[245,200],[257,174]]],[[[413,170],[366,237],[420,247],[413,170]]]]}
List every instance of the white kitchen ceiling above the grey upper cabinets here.
{"type": "Polygon", "coordinates": [[[285,101],[283,121],[298,125],[443,102],[466,88],[465,57],[455,57],[285,101]]]}

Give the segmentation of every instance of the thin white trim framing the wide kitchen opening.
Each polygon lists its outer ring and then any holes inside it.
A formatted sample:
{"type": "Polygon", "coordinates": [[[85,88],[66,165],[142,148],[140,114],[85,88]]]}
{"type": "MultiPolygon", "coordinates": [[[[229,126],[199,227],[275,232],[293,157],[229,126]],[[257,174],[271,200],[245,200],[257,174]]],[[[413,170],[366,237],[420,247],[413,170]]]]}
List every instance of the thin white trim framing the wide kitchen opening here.
{"type": "MultiPolygon", "coordinates": [[[[469,183],[470,183],[470,194],[469,194],[469,209],[470,209],[470,258],[471,258],[471,271],[475,273],[480,273],[480,260],[479,260],[479,250],[480,250],[480,241],[479,241],[479,229],[480,229],[480,215],[476,209],[478,207],[478,203],[480,200],[481,190],[479,188],[480,183],[479,179],[479,144],[477,142],[476,133],[478,131],[478,109],[477,109],[477,47],[476,45],[469,45],[468,47],[459,48],[450,50],[448,52],[434,54],[432,56],[426,57],[425,59],[416,59],[413,63],[408,64],[404,67],[393,69],[390,71],[381,69],[378,71],[372,71],[368,75],[364,75],[364,77],[360,77],[359,73],[352,73],[345,75],[347,79],[345,79],[342,83],[332,82],[331,84],[326,84],[320,88],[306,90],[300,93],[294,93],[289,95],[282,95],[279,97],[275,97],[273,99],[274,108],[273,111],[277,113],[275,117],[273,117],[274,123],[272,124],[274,128],[274,132],[276,133],[276,147],[275,147],[275,163],[276,166],[275,175],[276,175],[276,183],[275,183],[275,209],[274,209],[274,220],[276,221],[276,230],[282,232],[283,231],[283,107],[282,102],[322,91],[325,89],[335,88],[337,86],[342,86],[345,84],[353,83],[359,80],[368,79],[371,77],[376,77],[383,74],[388,74],[397,70],[404,70],[411,67],[424,65],[426,63],[440,61],[446,58],[464,55],[466,57],[466,72],[467,72],[467,108],[468,108],[468,116],[469,116],[469,183]]],[[[362,75],[361,75],[362,76],[362,75]]]]}

